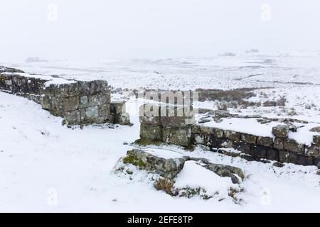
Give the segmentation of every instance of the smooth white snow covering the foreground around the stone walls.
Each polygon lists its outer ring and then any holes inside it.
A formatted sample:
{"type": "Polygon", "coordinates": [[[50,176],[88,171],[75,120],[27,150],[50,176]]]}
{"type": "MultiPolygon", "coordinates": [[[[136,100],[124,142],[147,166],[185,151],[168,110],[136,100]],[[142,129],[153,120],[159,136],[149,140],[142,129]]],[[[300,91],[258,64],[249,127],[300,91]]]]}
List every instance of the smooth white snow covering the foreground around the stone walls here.
{"type": "MultiPolygon", "coordinates": [[[[242,168],[247,178],[242,183],[244,192],[238,194],[241,204],[231,199],[171,197],[156,191],[144,175],[132,180],[114,175],[119,158],[139,138],[140,104],[135,99],[128,101],[132,127],[70,129],[62,126],[62,118],[50,115],[33,101],[0,92],[0,211],[320,211],[316,167],[274,167],[200,147],[193,153],[176,146],[160,148],[242,168]]],[[[193,170],[192,166],[186,168],[182,177],[196,177],[193,170]]]]}

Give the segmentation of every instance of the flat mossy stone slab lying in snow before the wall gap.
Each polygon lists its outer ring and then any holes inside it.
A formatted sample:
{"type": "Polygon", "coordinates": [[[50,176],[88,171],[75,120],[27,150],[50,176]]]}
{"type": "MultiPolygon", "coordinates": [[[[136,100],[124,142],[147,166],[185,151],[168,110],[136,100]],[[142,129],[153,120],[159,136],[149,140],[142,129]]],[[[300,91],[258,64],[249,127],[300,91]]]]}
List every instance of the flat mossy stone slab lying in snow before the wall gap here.
{"type": "Polygon", "coordinates": [[[142,170],[154,171],[166,179],[174,179],[182,170],[184,162],[189,157],[169,158],[158,157],[143,150],[128,150],[124,157],[124,164],[136,165],[142,170]]]}

